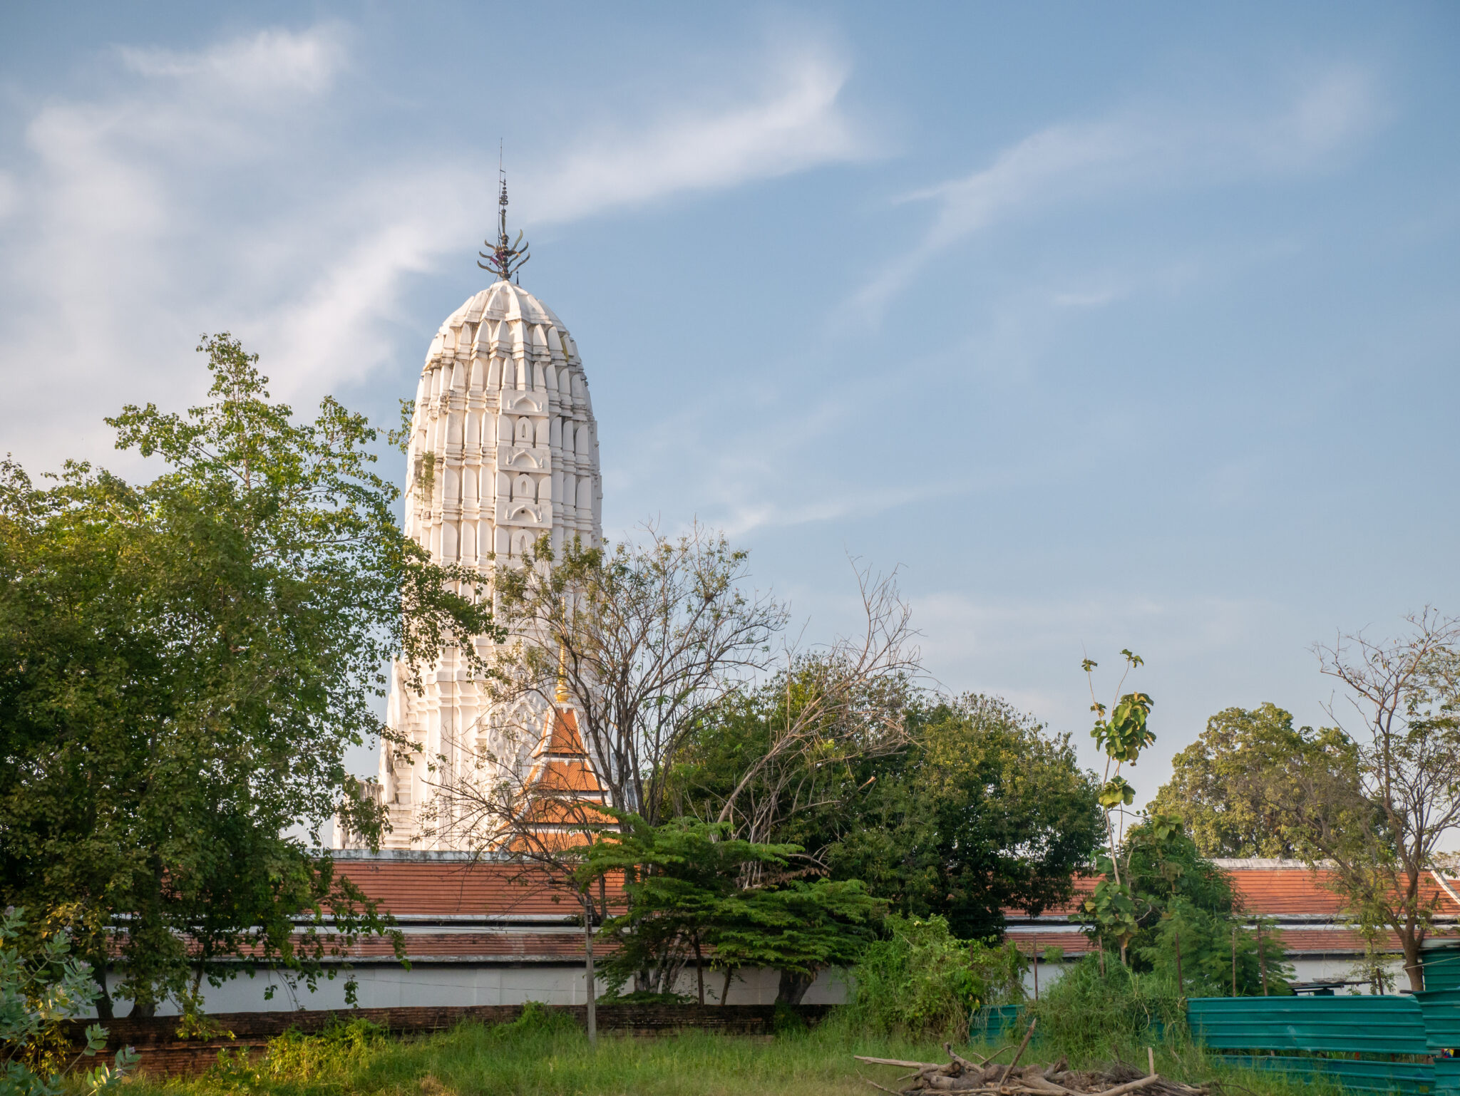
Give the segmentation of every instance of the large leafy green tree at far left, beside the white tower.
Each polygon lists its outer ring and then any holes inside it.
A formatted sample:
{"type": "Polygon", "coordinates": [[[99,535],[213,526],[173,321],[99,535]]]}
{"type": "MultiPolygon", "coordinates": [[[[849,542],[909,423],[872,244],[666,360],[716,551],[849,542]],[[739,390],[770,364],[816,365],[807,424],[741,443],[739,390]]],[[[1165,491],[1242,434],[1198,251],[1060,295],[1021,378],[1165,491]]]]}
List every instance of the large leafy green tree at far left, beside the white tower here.
{"type": "Polygon", "coordinates": [[[474,576],[397,528],[364,417],[327,398],[298,423],[235,340],[200,350],[207,404],[108,420],[150,483],[0,476],[0,893],[69,931],[102,1017],[257,963],[312,985],[384,930],[315,849],[331,817],[384,825],[345,750],[387,733],[391,655],[492,633],[474,576]]]}

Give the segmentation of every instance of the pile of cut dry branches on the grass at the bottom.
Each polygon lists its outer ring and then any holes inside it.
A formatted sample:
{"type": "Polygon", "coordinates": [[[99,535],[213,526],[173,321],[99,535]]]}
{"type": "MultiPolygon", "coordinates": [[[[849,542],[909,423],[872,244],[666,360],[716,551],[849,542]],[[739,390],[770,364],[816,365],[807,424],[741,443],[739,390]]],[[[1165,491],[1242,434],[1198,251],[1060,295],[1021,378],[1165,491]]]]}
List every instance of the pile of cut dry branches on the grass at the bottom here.
{"type": "MultiPolygon", "coordinates": [[[[911,1081],[907,1087],[888,1089],[876,1081],[867,1081],[875,1089],[891,1092],[894,1096],[917,1096],[918,1093],[958,1092],[969,1096],[1123,1096],[1123,1093],[1139,1093],[1139,1096],[1209,1096],[1213,1086],[1193,1087],[1180,1081],[1168,1080],[1156,1073],[1155,1052],[1148,1051],[1149,1070],[1142,1073],[1130,1062],[1114,1062],[1094,1070],[1072,1070],[1069,1061],[1060,1058],[1048,1065],[1019,1065],[1029,1039],[1034,1035],[1034,1024],[1023,1033],[1023,1041],[1013,1055],[1013,1061],[1004,1065],[996,1062],[1003,1051],[996,1051],[988,1058],[977,1062],[953,1054],[952,1043],[943,1043],[948,1051],[946,1062],[914,1062],[901,1058],[866,1058],[856,1055],[857,1061],[870,1065],[899,1065],[912,1073],[904,1074],[898,1080],[911,1081]]],[[[1007,1049],[1007,1048],[1004,1048],[1007,1049]]]]}

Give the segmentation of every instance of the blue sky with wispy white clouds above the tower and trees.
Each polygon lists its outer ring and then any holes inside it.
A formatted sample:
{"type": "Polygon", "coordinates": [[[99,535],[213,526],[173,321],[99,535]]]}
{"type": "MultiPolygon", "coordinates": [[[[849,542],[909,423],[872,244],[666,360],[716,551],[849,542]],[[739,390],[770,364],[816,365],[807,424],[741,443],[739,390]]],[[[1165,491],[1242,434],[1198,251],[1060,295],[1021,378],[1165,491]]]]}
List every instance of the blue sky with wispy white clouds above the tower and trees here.
{"type": "Polygon", "coordinates": [[[1457,60],[1442,3],[9,4],[0,447],[139,471],[101,417],[223,328],[390,419],[502,140],[609,536],[726,528],[809,639],[899,568],[934,679],[1091,763],[1132,647],[1149,795],[1460,611],[1457,60]]]}

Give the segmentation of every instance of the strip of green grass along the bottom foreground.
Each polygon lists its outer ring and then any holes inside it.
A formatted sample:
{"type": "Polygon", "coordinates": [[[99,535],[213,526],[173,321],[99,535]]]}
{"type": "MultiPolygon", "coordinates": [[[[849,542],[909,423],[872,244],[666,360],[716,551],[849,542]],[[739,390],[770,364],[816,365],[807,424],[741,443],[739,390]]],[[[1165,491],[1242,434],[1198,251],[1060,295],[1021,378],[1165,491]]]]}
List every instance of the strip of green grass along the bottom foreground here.
{"type": "MultiPolygon", "coordinates": [[[[968,1048],[965,1048],[967,1051],[968,1048]]],[[[990,1048],[974,1045],[987,1054],[990,1048]]],[[[552,1022],[482,1027],[391,1039],[356,1024],[330,1036],[283,1038],[253,1064],[225,1062],[191,1080],[127,1084],[128,1096],[875,1096],[866,1078],[901,1087],[899,1070],[866,1065],[854,1054],[942,1061],[927,1042],[863,1038],[835,1020],[821,1029],[780,1036],[727,1036],[686,1032],[653,1039],[602,1035],[590,1048],[575,1027],[552,1022]]],[[[1053,1054],[1031,1048],[1025,1061],[1053,1054]]],[[[1145,1064],[1145,1048],[1124,1048],[1127,1061],[1145,1064]]],[[[1007,1055],[1004,1058],[1007,1061],[1007,1055]]],[[[1080,1062],[1076,1062],[1080,1064],[1080,1062]]],[[[1162,1048],[1156,1068],[1187,1081],[1221,1078],[1266,1096],[1296,1096],[1308,1084],[1221,1070],[1199,1052],[1162,1048]]]]}

